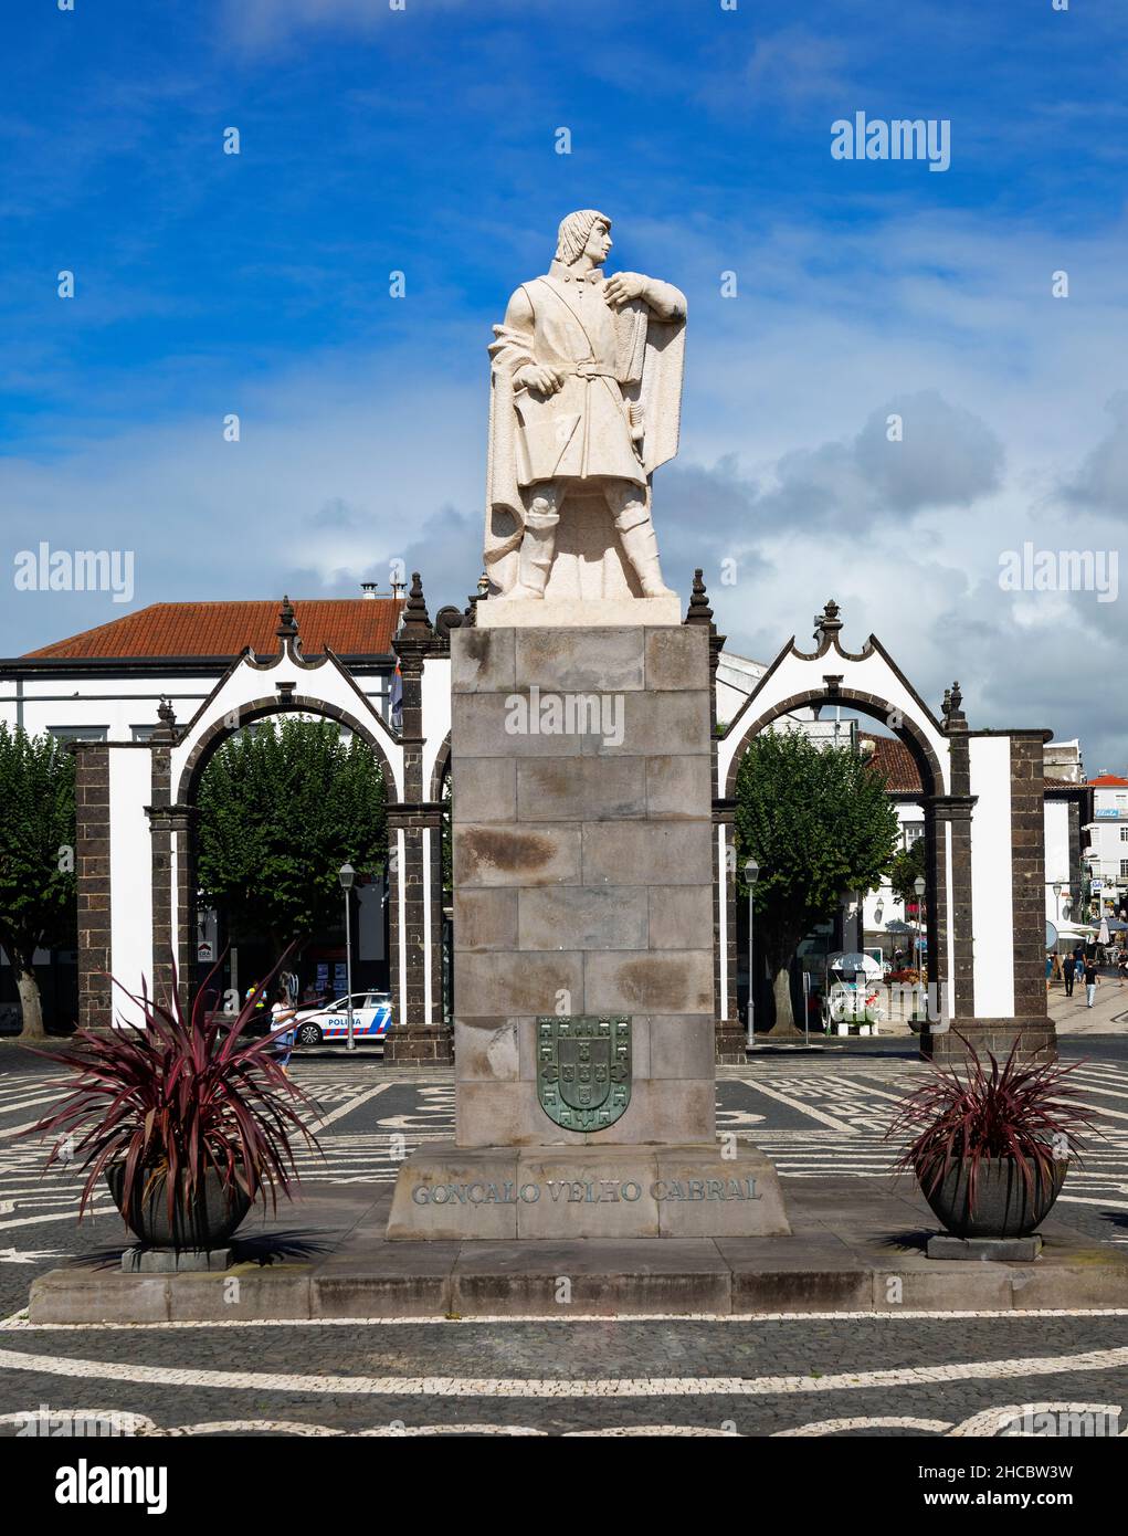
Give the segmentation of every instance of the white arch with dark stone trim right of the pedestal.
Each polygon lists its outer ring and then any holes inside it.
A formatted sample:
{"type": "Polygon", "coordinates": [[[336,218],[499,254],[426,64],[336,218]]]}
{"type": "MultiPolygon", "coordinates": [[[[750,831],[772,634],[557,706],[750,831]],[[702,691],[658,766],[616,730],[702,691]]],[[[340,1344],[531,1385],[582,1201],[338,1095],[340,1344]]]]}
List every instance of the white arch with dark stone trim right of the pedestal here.
{"type": "Polygon", "coordinates": [[[841,645],[829,602],[815,621],[813,651],[784,645],[717,745],[717,998],[718,1058],[744,1060],[737,1017],[737,905],[732,837],[737,773],[752,737],[798,710],[841,705],[889,727],[921,776],[927,849],[930,980],[939,983],[950,1028],[922,1035],[927,1054],[961,1054],[956,1031],[976,1048],[1054,1044],[1044,983],[1042,745],[1050,731],[970,730],[959,690],[941,719],[881,642],[841,645]]]}

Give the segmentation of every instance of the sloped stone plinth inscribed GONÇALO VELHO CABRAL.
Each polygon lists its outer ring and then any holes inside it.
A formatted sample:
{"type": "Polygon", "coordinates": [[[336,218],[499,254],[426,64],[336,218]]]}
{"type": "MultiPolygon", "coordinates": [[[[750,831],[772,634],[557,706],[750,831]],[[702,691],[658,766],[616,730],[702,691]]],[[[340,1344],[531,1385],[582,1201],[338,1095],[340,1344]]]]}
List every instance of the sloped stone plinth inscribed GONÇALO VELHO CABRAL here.
{"type": "Polygon", "coordinates": [[[775,1166],[749,1143],[419,1147],[402,1164],[388,1238],[786,1236],[775,1166]]]}

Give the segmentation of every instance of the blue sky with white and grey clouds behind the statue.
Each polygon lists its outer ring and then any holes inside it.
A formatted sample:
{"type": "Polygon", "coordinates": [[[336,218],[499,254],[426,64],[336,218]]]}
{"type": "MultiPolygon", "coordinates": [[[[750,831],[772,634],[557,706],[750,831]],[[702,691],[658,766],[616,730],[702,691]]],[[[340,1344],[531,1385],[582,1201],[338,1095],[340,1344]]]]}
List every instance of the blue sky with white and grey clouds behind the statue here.
{"type": "MultiPolygon", "coordinates": [[[[0,23],[9,570],[38,539],[129,548],[141,605],[353,593],[402,558],[462,601],[490,326],[594,206],[612,269],[689,296],[668,578],[701,564],[761,659],[833,594],[928,696],[961,674],[971,723],[1128,766],[1087,687],[1122,665],[1125,599],[998,584],[1025,539],[1123,539],[1120,5],[74,6],[0,23]],[[858,111],[948,120],[950,169],[833,160],[858,111]]],[[[12,593],[0,654],[121,611],[12,593]]]]}

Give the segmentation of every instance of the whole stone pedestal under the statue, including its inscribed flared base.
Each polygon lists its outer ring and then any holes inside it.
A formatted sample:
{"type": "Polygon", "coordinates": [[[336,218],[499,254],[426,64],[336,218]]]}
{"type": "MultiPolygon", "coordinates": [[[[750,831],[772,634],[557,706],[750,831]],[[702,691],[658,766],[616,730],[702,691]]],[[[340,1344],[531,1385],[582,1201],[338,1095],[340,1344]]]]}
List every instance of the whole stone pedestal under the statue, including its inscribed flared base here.
{"type": "Polygon", "coordinates": [[[707,631],[456,630],[451,688],[456,1141],[388,1236],[786,1232],[715,1135],[707,631]],[[557,1063],[562,1020],[592,1041],[557,1063]]]}

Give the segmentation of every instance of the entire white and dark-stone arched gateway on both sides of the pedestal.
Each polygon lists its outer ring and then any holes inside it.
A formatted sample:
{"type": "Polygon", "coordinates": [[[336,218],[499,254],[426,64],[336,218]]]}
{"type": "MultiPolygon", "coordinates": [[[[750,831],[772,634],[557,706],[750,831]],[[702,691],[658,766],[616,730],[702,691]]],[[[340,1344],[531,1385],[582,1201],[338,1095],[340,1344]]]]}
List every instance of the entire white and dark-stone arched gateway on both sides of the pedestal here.
{"type": "MultiPolygon", "coordinates": [[[[700,571],[686,624],[704,625],[709,651],[724,637],[712,622],[700,571]]],[[[390,727],[341,659],[302,654],[289,602],[273,656],[247,648],[195,716],[176,723],[166,705],[147,742],[80,742],[78,926],[80,1017],[109,1025],[124,1000],[109,974],[160,995],[193,974],[195,788],[218,745],[252,720],[307,713],[339,720],[379,759],[387,782],[390,860],[390,975],[394,1028],[388,1060],[442,1063],[451,1057],[444,1017],[442,819],[450,768],[450,631],[474,624],[444,610],[431,625],[419,578],[393,641],[402,674],[402,717],[390,727]]],[[[744,1060],[737,1017],[737,903],[734,793],[749,740],[783,716],[843,705],[884,722],[913,756],[922,785],[927,837],[928,954],[945,988],[953,1031],[976,1044],[1053,1048],[1044,985],[1044,822],[1041,730],[970,730],[958,690],[938,719],[873,637],[858,653],[841,645],[835,604],[816,619],[812,651],[789,641],[724,733],[714,739],[714,992],[717,1057],[744,1060]]],[[[715,699],[715,690],[714,690],[715,699]]],[[[715,708],[715,705],[714,705],[715,708]]],[[[715,720],[714,720],[715,723],[715,720]]],[[[127,1014],[127,1005],[124,1017],[127,1014]]],[[[933,1055],[962,1051],[950,1032],[930,1032],[933,1055]]]]}

